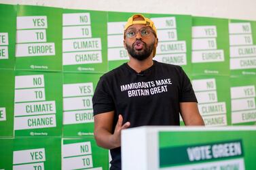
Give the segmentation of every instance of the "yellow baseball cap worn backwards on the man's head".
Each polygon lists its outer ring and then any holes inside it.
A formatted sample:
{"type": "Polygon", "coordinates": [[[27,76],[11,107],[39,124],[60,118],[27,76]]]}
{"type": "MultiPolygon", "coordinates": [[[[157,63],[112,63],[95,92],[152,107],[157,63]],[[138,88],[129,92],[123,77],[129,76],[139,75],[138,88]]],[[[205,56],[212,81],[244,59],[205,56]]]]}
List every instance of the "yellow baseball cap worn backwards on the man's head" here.
{"type": "MultiPolygon", "coordinates": [[[[126,25],[124,26],[124,33],[126,32],[126,29],[133,25],[133,24],[146,24],[150,28],[152,28],[153,33],[155,34],[156,38],[158,38],[157,32],[156,32],[156,27],[155,24],[153,24],[153,21],[150,20],[149,18],[146,18],[142,14],[135,14],[128,18],[126,25]],[[135,18],[143,18],[143,20],[134,20],[135,18]]],[[[125,36],[125,35],[124,35],[125,36]]],[[[124,37],[125,38],[125,37],[124,37]]],[[[153,49],[153,57],[156,56],[156,48],[153,49]]]]}

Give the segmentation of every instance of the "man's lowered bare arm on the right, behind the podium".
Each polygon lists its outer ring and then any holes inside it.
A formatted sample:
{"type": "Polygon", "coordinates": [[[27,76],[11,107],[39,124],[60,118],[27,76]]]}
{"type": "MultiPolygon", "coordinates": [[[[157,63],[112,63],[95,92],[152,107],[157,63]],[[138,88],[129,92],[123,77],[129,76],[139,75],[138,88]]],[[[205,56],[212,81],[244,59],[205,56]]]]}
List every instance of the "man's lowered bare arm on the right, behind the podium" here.
{"type": "Polygon", "coordinates": [[[185,125],[204,125],[196,102],[181,102],[179,105],[185,125]]]}

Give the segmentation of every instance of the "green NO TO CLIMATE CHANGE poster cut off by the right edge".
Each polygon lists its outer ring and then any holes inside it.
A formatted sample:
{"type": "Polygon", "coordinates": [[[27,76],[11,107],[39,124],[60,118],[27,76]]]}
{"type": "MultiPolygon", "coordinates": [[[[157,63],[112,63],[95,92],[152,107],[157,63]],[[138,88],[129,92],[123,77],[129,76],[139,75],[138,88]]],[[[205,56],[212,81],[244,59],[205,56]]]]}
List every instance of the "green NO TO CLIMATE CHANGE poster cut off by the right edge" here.
{"type": "Polygon", "coordinates": [[[256,21],[230,20],[231,75],[256,75],[256,21]]]}

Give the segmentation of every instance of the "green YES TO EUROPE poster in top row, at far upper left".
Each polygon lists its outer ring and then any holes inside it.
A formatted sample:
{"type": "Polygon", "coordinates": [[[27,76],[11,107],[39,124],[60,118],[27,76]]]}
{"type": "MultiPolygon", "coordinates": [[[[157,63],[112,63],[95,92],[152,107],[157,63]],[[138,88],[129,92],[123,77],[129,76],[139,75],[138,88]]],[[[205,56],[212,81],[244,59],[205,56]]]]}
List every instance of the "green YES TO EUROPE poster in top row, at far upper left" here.
{"type": "Polygon", "coordinates": [[[18,5],[16,70],[62,70],[62,9],[18,5]]]}

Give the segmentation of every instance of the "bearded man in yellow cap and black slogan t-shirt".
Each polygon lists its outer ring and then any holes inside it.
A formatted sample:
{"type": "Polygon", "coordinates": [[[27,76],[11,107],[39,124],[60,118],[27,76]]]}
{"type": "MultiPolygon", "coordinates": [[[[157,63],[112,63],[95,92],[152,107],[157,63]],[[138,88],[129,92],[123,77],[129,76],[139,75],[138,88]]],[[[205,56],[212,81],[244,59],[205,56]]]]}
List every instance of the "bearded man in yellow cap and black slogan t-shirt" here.
{"type": "Polygon", "coordinates": [[[94,136],[110,149],[111,169],[121,169],[121,131],[143,125],[204,125],[191,83],[180,66],[153,60],[158,46],[156,28],[137,14],[124,28],[128,63],[107,72],[96,87],[94,136]]]}

